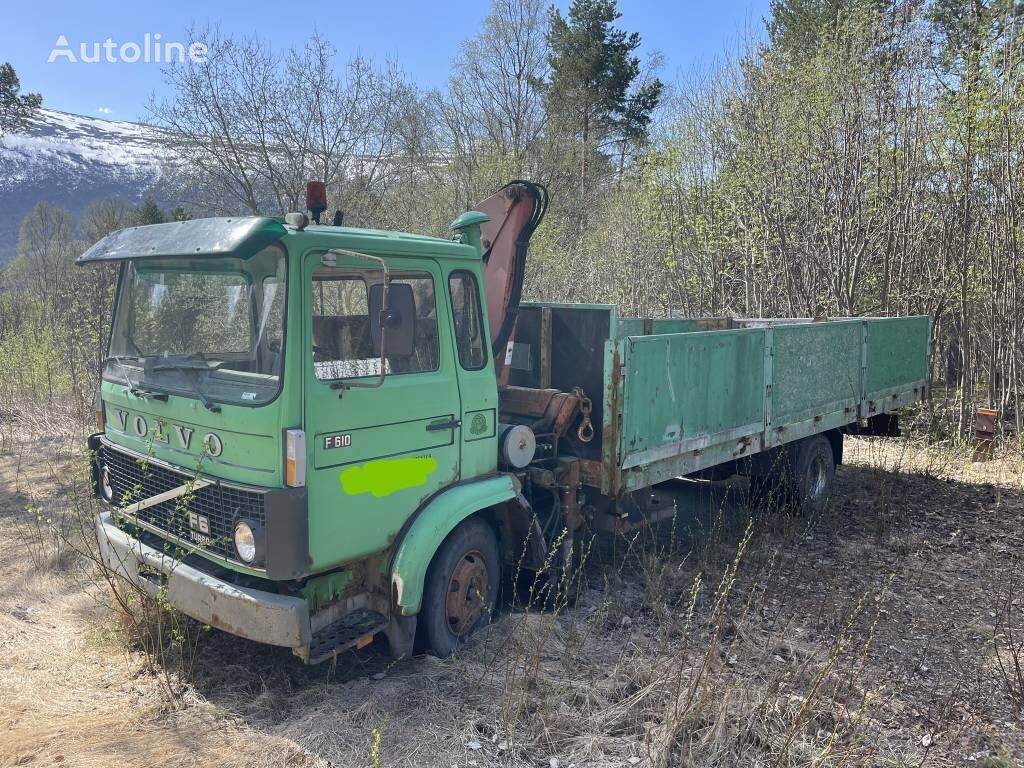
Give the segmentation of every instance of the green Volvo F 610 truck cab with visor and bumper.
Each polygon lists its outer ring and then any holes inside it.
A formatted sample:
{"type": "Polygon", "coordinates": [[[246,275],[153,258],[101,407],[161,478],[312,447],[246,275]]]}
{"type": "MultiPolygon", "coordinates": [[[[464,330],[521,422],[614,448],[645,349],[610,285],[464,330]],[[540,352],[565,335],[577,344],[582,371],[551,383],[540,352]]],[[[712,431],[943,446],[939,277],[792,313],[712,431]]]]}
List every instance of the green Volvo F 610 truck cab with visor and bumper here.
{"type": "Polygon", "coordinates": [[[103,559],[308,662],[378,632],[410,652],[432,575],[421,633],[446,653],[494,609],[499,528],[528,525],[498,466],[480,222],[295,221],[136,227],[81,257],[121,265],[90,438],[103,559]]]}

